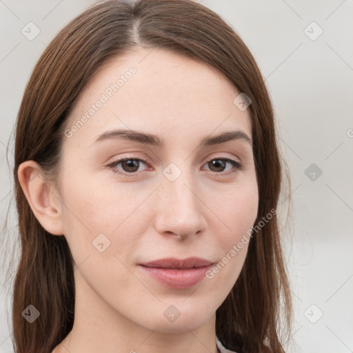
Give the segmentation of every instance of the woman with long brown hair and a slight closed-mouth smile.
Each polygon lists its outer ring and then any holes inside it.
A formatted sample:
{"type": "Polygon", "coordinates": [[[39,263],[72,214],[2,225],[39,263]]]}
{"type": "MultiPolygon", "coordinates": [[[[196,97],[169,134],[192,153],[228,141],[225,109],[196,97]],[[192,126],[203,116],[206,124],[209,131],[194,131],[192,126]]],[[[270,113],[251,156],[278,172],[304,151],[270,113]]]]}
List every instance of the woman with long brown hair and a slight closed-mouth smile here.
{"type": "Polygon", "coordinates": [[[16,352],[284,352],[272,105],[217,14],[85,10],[34,68],[15,139],[16,352]]]}

